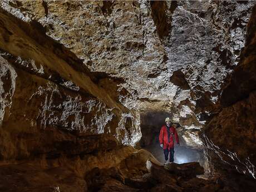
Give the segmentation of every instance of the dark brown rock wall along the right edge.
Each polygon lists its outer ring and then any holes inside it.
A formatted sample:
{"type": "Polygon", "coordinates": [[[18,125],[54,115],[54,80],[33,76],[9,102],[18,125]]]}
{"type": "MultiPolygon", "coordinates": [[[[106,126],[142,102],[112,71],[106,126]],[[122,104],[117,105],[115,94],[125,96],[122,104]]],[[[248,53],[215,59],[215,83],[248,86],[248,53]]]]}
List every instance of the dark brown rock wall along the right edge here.
{"type": "Polygon", "coordinates": [[[204,140],[217,172],[233,170],[256,178],[255,154],[255,20],[248,23],[246,46],[239,65],[229,78],[220,98],[221,108],[205,127],[204,140]]]}

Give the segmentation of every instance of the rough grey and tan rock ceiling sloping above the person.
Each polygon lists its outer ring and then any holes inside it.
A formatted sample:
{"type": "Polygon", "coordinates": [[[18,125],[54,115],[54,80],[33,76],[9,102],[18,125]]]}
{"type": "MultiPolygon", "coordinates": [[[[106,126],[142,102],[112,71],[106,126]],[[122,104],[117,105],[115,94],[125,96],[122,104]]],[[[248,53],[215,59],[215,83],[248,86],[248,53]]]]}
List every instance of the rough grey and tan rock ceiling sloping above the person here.
{"type": "Polygon", "coordinates": [[[118,97],[129,109],[166,102],[178,109],[176,120],[198,128],[210,118],[225,77],[239,62],[253,4],[1,2],[24,21],[40,22],[90,70],[121,78],[119,88],[127,91],[118,97]]]}

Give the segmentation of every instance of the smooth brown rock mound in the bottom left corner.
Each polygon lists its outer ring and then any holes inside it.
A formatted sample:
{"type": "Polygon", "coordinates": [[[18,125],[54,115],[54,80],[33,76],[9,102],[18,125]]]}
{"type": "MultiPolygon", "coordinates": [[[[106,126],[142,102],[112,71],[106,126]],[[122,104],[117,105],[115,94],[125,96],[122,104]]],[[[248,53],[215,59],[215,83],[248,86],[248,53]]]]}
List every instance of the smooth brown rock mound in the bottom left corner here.
{"type": "Polygon", "coordinates": [[[43,169],[38,165],[0,166],[0,191],[78,192],[87,191],[85,180],[67,168],[43,169]]]}

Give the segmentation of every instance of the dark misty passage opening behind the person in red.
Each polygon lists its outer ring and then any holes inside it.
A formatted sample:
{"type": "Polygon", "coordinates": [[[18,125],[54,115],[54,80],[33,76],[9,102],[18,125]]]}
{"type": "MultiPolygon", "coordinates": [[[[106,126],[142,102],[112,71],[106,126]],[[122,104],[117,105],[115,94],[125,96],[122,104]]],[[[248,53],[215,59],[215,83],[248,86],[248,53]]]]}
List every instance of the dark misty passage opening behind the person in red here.
{"type": "MultiPolygon", "coordinates": [[[[164,152],[159,144],[159,132],[161,126],[165,125],[165,118],[170,117],[170,113],[165,111],[145,112],[140,115],[141,133],[140,146],[150,151],[157,160],[164,163],[164,152]]],[[[206,169],[206,160],[203,149],[188,146],[183,138],[183,127],[178,126],[176,131],[179,135],[180,146],[174,147],[174,163],[183,164],[189,162],[199,162],[206,169]]]]}

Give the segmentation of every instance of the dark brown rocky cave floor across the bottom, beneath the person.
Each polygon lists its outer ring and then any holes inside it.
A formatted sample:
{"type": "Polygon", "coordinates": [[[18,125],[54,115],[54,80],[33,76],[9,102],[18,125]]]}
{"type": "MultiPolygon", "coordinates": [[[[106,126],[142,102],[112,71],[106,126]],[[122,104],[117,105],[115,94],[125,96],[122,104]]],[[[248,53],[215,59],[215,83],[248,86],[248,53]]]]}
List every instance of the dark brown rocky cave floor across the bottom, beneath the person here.
{"type": "MultiPolygon", "coordinates": [[[[68,166],[54,167],[53,161],[33,161],[0,166],[0,191],[253,191],[252,179],[234,173],[232,179],[200,176],[204,168],[198,162],[163,165],[150,152],[131,152],[119,165],[93,168],[81,176],[68,166]],[[45,165],[43,165],[45,164],[45,165]],[[43,168],[44,167],[44,168],[43,168]]],[[[76,168],[78,169],[78,168],[76,168]]]]}

